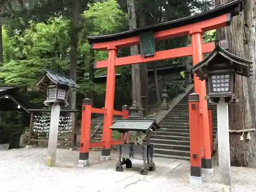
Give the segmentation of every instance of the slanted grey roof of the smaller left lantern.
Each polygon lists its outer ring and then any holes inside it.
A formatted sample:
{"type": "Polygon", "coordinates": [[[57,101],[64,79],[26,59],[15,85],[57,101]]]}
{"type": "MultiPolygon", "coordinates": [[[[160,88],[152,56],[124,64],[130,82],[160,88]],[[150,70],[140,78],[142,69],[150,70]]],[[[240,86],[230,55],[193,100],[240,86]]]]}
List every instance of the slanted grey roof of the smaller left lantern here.
{"type": "Polygon", "coordinates": [[[49,86],[50,84],[59,84],[61,86],[80,88],[71,78],[66,75],[61,75],[51,70],[44,70],[45,75],[36,84],[40,88],[49,86]]]}

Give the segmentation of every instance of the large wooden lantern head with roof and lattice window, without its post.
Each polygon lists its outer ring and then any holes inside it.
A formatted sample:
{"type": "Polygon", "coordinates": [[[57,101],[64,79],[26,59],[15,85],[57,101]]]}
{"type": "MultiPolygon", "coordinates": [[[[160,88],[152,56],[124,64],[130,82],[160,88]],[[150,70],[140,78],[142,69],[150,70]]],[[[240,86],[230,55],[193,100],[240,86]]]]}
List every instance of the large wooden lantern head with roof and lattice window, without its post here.
{"type": "Polygon", "coordinates": [[[207,99],[218,103],[220,98],[226,102],[237,102],[234,94],[236,74],[249,77],[252,75],[253,62],[233,55],[215,42],[215,49],[201,62],[190,68],[200,80],[208,79],[209,94],[207,99]]]}

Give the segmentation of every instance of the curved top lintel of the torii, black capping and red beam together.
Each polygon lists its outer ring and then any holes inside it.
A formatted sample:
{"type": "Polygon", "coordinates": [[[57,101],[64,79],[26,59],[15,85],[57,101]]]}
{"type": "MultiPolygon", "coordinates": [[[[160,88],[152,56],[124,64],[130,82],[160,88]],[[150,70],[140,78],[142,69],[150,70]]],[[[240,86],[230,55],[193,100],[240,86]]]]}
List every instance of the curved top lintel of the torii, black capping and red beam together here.
{"type": "Polygon", "coordinates": [[[164,40],[188,35],[191,29],[209,31],[228,26],[231,17],[238,15],[242,8],[243,0],[236,0],[193,16],[121,33],[88,36],[87,38],[95,50],[107,50],[109,46],[129,47],[139,45],[139,35],[144,32],[153,31],[155,40],[164,40]]]}

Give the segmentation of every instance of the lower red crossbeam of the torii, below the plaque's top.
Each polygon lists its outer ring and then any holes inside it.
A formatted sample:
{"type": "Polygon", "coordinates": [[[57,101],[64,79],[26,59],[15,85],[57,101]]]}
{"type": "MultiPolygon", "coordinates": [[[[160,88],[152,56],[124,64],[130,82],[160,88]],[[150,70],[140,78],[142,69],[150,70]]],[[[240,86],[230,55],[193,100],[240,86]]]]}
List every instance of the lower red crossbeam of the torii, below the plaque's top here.
{"type": "MultiPolygon", "coordinates": [[[[227,49],[226,40],[221,41],[221,45],[224,49],[227,49]]],[[[214,42],[209,42],[207,44],[203,44],[203,53],[209,53],[215,48],[214,42]]],[[[186,57],[191,56],[193,53],[192,47],[182,47],[176,49],[169,49],[164,51],[157,51],[153,57],[141,57],[141,55],[134,55],[134,56],[127,56],[127,57],[120,57],[116,58],[115,66],[126,66],[126,65],[133,65],[135,63],[144,63],[144,62],[152,62],[158,60],[165,60],[165,59],[173,59],[179,57],[186,57]]],[[[108,60],[97,61],[94,64],[95,69],[106,68],[108,67],[108,60]]]]}

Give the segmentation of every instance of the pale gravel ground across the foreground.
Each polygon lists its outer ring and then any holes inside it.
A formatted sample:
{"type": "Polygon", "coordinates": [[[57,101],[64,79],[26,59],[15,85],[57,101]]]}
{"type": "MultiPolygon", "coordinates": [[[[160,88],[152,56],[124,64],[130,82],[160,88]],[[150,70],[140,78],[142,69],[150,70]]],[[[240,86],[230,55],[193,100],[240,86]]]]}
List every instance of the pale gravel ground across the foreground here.
{"type": "MultiPolygon", "coordinates": [[[[218,167],[202,185],[191,185],[187,161],[155,158],[156,171],[142,176],[137,161],[133,169],[115,172],[116,154],[111,161],[99,162],[100,152],[91,152],[91,166],[81,168],[77,151],[58,150],[55,167],[45,166],[46,152],[43,148],[0,151],[0,191],[218,191],[218,167]]],[[[232,167],[232,192],[243,191],[256,192],[256,169],[232,167]]]]}

